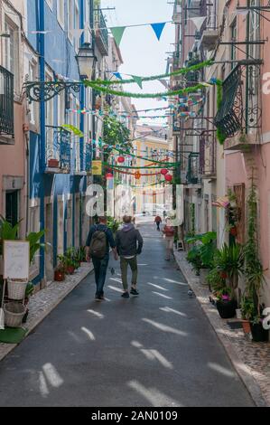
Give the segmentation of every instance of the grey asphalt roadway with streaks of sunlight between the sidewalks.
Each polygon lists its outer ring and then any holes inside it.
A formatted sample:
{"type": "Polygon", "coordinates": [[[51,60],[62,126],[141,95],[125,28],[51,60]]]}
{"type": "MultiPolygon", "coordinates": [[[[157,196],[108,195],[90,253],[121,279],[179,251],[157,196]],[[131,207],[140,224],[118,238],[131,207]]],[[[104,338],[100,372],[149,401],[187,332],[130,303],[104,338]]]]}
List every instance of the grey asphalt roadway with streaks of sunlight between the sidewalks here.
{"type": "Polygon", "coordinates": [[[139,297],[121,298],[119,263],[97,303],[90,275],[0,364],[1,406],[252,406],[154,219],[139,297]]]}

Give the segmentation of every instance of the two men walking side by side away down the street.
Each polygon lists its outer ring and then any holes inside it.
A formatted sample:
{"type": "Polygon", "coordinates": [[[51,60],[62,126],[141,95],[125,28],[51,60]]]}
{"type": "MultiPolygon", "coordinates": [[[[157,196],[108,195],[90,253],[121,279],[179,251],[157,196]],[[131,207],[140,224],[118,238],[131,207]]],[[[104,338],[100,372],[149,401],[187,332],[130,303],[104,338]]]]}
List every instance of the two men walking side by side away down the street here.
{"type": "Polygon", "coordinates": [[[116,241],[112,231],[107,228],[107,219],[105,217],[99,217],[98,225],[92,226],[88,234],[86,254],[88,261],[90,258],[93,260],[97,285],[97,301],[104,299],[103,288],[107,275],[109,247],[113,250],[115,260],[118,260],[117,254],[120,255],[120,267],[124,288],[122,297],[129,297],[127,284],[128,266],[132,270],[132,287],[130,293],[132,295],[139,295],[136,289],[137,255],[142,252],[144,241],[140,232],[137,231],[134,224],[132,224],[132,217],[125,216],[123,222],[123,229],[116,232],[116,241]]]}

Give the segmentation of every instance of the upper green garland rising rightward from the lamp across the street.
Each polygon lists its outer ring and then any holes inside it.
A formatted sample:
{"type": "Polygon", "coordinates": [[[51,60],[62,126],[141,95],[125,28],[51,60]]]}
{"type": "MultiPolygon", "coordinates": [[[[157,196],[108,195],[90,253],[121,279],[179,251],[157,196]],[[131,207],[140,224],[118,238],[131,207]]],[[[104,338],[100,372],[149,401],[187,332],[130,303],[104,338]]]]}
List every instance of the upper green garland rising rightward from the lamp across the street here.
{"type": "MultiPolygon", "coordinates": [[[[181,75],[181,74],[186,74],[188,72],[191,71],[199,71],[202,68],[205,68],[207,66],[210,66],[213,64],[212,60],[209,61],[203,61],[200,63],[197,63],[196,65],[191,65],[190,67],[187,68],[182,68],[181,70],[178,71],[173,71],[173,72],[167,72],[165,74],[161,74],[161,75],[153,75],[152,77],[140,77],[140,80],[142,81],[154,81],[154,80],[162,80],[164,78],[169,78],[169,77],[173,77],[174,75],[181,75]]],[[[98,86],[99,85],[103,85],[103,86],[112,86],[115,84],[131,84],[135,81],[135,79],[129,79],[129,80],[116,80],[116,81],[112,81],[112,80],[95,80],[92,81],[94,83],[96,83],[98,86]]]]}

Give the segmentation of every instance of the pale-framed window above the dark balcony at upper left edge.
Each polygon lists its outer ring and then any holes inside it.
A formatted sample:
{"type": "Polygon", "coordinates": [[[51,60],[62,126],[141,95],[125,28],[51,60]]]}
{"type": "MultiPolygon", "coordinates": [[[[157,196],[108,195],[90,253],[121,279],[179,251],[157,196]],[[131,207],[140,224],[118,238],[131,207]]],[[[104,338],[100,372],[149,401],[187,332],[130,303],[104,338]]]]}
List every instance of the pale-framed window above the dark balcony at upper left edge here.
{"type": "Polygon", "coordinates": [[[5,68],[14,74],[14,89],[19,91],[19,29],[7,17],[5,33],[9,34],[9,37],[5,38],[5,68]]]}

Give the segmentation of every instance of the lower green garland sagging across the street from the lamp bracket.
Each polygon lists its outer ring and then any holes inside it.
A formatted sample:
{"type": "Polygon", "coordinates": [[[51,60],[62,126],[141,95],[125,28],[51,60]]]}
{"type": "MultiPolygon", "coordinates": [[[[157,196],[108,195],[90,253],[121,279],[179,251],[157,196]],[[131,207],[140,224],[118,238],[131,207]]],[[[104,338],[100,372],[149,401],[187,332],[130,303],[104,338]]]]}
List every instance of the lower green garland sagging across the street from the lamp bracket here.
{"type": "Polygon", "coordinates": [[[111,94],[114,96],[125,97],[125,98],[136,98],[136,99],[168,98],[170,96],[191,93],[193,91],[198,91],[200,89],[205,88],[204,84],[199,83],[199,84],[196,84],[196,86],[187,87],[186,89],[169,90],[163,93],[131,93],[128,91],[111,90],[111,89],[108,89],[107,87],[98,86],[94,82],[88,81],[88,80],[84,81],[84,84],[86,87],[91,87],[93,90],[96,90],[96,91],[101,91],[103,93],[111,94]]]}

